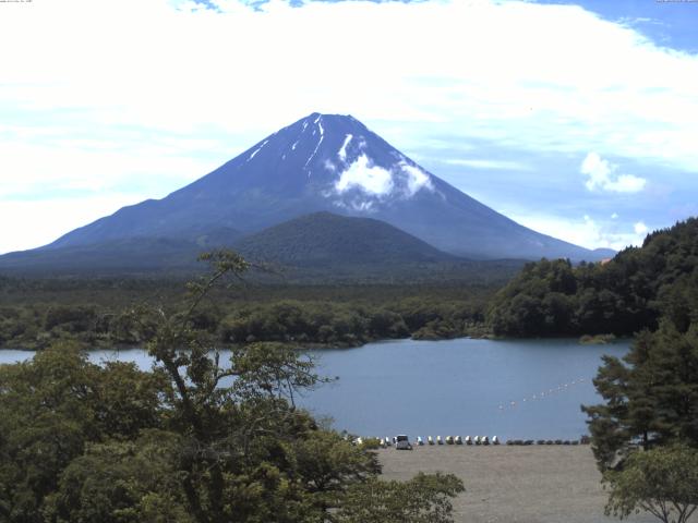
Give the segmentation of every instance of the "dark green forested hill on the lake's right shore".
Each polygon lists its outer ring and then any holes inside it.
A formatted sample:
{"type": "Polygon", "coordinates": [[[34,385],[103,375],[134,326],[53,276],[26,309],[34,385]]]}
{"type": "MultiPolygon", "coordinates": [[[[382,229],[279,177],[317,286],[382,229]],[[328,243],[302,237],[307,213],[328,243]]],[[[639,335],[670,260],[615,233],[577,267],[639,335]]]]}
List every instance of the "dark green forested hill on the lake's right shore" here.
{"type": "Polygon", "coordinates": [[[631,335],[667,317],[681,331],[698,321],[698,219],[649,234],[605,264],[527,264],[493,299],[501,336],[631,335]]]}

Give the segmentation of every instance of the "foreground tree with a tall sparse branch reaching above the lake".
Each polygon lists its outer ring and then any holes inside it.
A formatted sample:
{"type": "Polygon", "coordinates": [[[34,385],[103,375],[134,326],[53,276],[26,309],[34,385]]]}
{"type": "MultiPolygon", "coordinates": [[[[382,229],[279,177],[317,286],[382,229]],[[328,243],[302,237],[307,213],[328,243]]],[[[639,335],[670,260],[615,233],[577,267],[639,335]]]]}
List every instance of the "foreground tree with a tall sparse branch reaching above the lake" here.
{"type": "Polygon", "coordinates": [[[156,326],[148,351],[173,384],[168,416],[181,438],[176,475],[186,510],[198,523],[322,521],[338,492],[375,475],[375,457],[296,408],[298,391],[323,381],[312,360],[286,344],[249,343],[220,362],[216,339],[191,317],[216,282],[248,265],[228,252],[204,259],[213,271],[190,284],[184,312],[139,312],[156,326]]]}

